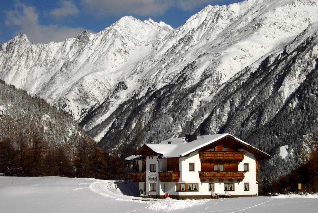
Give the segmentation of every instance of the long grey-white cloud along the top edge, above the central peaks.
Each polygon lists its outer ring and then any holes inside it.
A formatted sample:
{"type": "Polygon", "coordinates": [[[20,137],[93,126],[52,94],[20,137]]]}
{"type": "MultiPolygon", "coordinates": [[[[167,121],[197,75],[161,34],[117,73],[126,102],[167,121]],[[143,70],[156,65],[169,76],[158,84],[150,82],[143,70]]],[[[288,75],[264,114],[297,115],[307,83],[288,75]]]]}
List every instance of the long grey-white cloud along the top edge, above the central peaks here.
{"type": "Polygon", "coordinates": [[[97,16],[160,15],[170,8],[193,10],[217,0],[81,0],[84,8],[97,16]]]}

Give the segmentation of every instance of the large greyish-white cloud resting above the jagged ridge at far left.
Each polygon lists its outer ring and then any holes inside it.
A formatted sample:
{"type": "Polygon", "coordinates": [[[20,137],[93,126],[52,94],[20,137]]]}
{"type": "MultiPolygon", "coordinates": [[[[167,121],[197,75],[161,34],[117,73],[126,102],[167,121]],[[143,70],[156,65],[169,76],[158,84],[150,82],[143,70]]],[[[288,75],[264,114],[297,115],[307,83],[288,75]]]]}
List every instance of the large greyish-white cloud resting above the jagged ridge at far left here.
{"type": "Polygon", "coordinates": [[[66,38],[76,37],[84,30],[54,24],[41,25],[35,8],[22,3],[16,3],[14,10],[6,12],[5,24],[18,27],[16,33],[24,33],[31,42],[37,43],[64,41],[66,38]]]}

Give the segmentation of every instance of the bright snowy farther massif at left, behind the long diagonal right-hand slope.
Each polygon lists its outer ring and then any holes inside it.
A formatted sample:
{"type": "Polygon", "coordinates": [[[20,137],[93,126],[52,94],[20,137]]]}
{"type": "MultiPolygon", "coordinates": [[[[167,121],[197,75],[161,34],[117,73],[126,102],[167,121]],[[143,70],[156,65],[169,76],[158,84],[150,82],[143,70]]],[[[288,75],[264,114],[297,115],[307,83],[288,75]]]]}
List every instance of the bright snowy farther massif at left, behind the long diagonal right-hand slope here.
{"type": "Polygon", "coordinates": [[[0,46],[0,76],[79,120],[83,111],[108,97],[170,30],[162,22],[123,17],[97,34],[84,30],[59,43],[30,43],[18,34],[0,46]]]}

